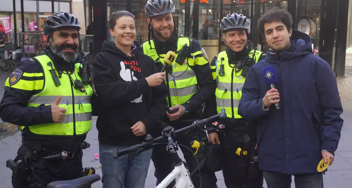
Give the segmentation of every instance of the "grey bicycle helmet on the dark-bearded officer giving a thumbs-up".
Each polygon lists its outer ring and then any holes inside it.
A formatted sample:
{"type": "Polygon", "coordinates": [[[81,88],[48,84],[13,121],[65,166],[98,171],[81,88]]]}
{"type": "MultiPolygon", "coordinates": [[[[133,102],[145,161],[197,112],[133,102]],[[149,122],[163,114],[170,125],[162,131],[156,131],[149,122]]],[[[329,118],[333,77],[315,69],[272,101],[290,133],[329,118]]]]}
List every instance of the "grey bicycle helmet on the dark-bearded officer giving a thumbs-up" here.
{"type": "Polygon", "coordinates": [[[57,30],[60,27],[72,26],[79,32],[81,30],[80,21],[73,15],[66,12],[54,13],[44,22],[44,35],[57,30]]]}

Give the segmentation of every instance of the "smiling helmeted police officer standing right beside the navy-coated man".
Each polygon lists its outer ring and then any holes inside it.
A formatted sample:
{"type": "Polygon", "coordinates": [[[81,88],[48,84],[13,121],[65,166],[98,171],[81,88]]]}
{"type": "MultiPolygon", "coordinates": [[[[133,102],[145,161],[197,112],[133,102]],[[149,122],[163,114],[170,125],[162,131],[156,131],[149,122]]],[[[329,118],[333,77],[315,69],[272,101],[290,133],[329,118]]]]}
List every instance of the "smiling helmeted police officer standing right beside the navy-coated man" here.
{"type": "Polygon", "coordinates": [[[212,113],[220,113],[225,108],[227,120],[224,122],[224,134],[208,131],[209,142],[222,146],[222,173],[227,188],[261,188],[263,185],[255,149],[255,124],[247,122],[237,113],[248,70],[265,56],[263,52],[252,49],[252,43],[248,40],[249,28],[249,20],[242,14],[233,13],[224,17],[220,30],[226,49],[210,63],[216,84],[212,113]]]}

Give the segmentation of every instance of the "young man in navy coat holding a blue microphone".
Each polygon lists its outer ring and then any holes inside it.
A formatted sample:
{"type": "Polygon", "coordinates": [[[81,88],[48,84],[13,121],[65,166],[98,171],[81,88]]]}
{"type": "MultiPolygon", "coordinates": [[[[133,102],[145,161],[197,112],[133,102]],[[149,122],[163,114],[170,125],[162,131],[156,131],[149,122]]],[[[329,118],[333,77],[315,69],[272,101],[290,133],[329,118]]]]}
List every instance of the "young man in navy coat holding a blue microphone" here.
{"type": "Polygon", "coordinates": [[[257,123],[259,168],[268,188],[290,187],[291,175],[296,187],[322,188],[317,166],[321,159],[333,163],[343,124],[335,75],[313,55],[310,37],[292,29],[287,11],[274,8],[258,25],[268,52],[249,70],[238,114],[257,123]],[[276,89],[264,82],[269,66],[276,89]]]}

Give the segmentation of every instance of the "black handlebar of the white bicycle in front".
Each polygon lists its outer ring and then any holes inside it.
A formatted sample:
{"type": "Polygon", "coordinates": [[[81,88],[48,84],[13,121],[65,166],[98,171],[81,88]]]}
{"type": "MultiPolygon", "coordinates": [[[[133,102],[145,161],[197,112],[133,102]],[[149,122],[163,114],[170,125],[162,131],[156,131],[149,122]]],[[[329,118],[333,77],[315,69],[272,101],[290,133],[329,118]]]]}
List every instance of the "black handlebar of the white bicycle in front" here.
{"type": "MultiPolygon", "coordinates": [[[[221,112],[220,114],[216,114],[216,115],[213,115],[212,117],[209,117],[209,118],[206,118],[206,119],[203,119],[203,120],[196,120],[194,121],[193,124],[187,126],[187,127],[183,127],[182,129],[179,129],[179,130],[176,130],[175,131],[175,135],[181,133],[181,132],[184,132],[184,131],[189,131],[191,129],[194,129],[196,127],[202,127],[204,126],[205,124],[209,123],[210,121],[213,121],[214,119],[216,118],[220,118],[220,119],[225,119],[227,116],[226,116],[226,111],[225,111],[225,108],[222,108],[221,109],[221,112]]],[[[126,155],[128,153],[132,153],[134,151],[137,151],[141,148],[144,148],[146,146],[150,146],[152,145],[153,143],[157,143],[157,142],[160,142],[162,140],[165,140],[165,138],[163,136],[159,136],[155,139],[152,139],[152,140],[147,140],[146,142],[143,142],[141,144],[136,144],[136,145],[133,145],[131,147],[128,147],[126,149],[123,149],[123,150],[120,150],[120,151],[116,151],[116,156],[113,156],[114,159],[117,159],[118,157],[121,157],[123,155],[126,155]]]]}

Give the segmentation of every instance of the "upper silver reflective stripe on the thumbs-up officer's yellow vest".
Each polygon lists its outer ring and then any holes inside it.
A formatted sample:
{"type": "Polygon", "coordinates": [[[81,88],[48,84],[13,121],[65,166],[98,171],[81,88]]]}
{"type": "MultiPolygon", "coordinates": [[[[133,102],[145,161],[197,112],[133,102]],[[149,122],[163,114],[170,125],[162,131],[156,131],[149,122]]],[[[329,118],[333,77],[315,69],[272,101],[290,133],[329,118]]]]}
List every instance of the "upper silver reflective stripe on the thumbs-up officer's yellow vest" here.
{"type": "MultiPolygon", "coordinates": [[[[56,99],[58,98],[58,96],[31,96],[31,98],[29,99],[28,103],[34,103],[34,104],[45,104],[45,105],[50,105],[52,104],[54,101],[56,101],[56,99]]],[[[90,98],[91,96],[75,96],[75,104],[78,104],[78,102],[81,99],[81,104],[90,104],[90,98]]],[[[66,103],[72,104],[72,96],[61,96],[61,100],[59,102],[60,105],[65,105],[66,103]]]]}

